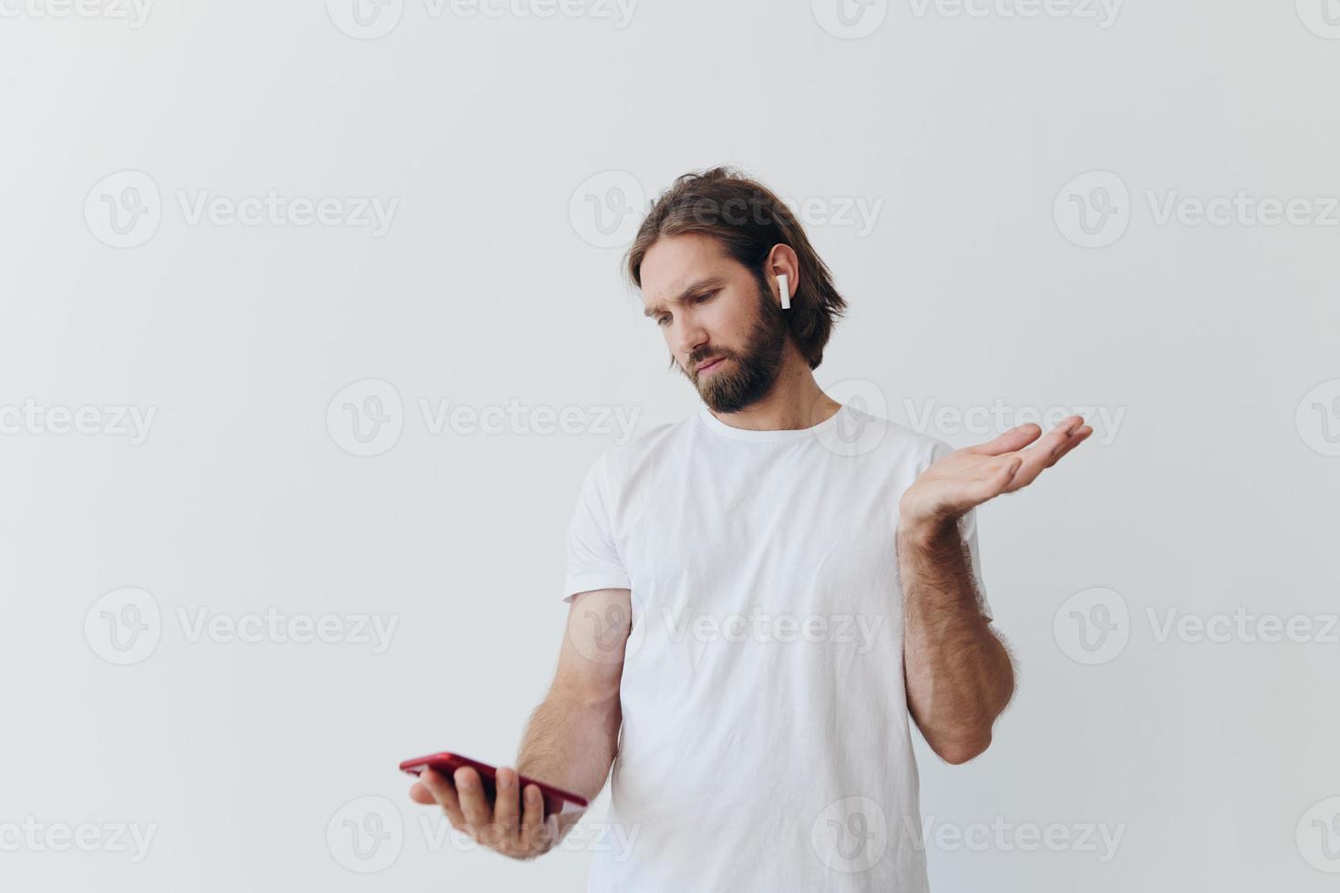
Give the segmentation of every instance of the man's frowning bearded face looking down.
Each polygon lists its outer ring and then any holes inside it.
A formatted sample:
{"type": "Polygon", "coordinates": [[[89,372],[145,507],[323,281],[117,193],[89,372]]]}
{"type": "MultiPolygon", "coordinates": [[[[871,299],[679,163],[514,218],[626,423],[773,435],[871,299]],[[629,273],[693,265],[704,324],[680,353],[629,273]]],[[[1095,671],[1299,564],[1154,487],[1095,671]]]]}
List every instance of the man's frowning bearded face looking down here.
{"type": "Polygon", "coordinates": [[[781,372],[787,321],[772,291],[710,236],[661,238],[642,258],[646,312],[679,371],[714,412],[766,396],[781,372]]]}

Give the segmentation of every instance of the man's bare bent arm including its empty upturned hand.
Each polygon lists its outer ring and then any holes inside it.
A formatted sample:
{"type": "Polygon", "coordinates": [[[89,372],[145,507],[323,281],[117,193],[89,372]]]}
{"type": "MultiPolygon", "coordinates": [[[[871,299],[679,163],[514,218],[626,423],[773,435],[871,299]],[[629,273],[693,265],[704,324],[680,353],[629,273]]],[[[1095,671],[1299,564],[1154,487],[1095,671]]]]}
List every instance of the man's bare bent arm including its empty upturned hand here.
{"type": "Polygon", "coordinates": [[[1040,427],[1024,424],[955,450],[926,469],[899,503],[907,707],[926,743],[949,763],[986,750],[1014,692],[1009,652],[977,605],[958,521],[1056,465],[1093,432],[1083,422],[1072,415],[1041,439],[1040,427]]]}

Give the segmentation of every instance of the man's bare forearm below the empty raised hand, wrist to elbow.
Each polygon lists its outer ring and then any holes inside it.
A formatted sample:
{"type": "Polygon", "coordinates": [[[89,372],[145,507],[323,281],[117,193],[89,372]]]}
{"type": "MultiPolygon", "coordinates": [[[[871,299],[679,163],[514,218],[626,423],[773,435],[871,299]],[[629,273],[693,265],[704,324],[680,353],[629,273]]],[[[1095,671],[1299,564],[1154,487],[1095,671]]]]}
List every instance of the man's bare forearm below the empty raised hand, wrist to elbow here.
{"type": "Polygon", "coordinates": [[[900,530],[907,704],[931,748],[951,763],[978,755],[1014,691],[1009,652],[977,604],[954,525],[900,530]]]}

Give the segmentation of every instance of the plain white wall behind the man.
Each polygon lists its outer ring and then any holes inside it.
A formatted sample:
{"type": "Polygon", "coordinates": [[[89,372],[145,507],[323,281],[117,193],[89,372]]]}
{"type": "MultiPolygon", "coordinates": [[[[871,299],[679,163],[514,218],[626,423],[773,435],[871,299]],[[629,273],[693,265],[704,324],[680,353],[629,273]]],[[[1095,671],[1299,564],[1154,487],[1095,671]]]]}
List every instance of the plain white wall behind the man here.
{"type": "Polygon", "coordinates": [[[143,1],[0,0],[7,888],[584,889],[395,763],[513,759],[580,475],[699,406],[618,265],[716,163],[851,301],[820,384],[1099,428],[982,511],[1020,687],[921,750],[934,888],[1335,884],[1335,0],[143,1]],[[268,609],[340,640],[196,625],[268,609]]]}

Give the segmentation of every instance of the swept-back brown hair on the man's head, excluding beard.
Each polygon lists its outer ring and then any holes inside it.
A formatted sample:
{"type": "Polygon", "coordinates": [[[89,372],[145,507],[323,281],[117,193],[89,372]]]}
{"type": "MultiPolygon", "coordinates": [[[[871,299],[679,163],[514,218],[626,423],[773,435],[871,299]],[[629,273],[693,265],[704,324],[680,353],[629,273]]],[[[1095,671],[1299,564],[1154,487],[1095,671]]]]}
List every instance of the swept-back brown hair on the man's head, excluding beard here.
{"type": "Polygon", "coordinates": [[[805,230],[777,195],[762,183],[730,167],[713,167],[678,177],[647,212],[627,254],[627,274],[642,288],[642,260],[657,240],[683,233],[702,233],[721,242],[726,254],[754,274],[770,293],[764,261],[773,245],[788,245],[800,260],[799,278],[785,317],[800,355],[816,368],[833,323],[847,301],[833,287],[828,265],[819,257],[805,230]]]}

